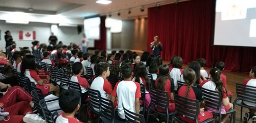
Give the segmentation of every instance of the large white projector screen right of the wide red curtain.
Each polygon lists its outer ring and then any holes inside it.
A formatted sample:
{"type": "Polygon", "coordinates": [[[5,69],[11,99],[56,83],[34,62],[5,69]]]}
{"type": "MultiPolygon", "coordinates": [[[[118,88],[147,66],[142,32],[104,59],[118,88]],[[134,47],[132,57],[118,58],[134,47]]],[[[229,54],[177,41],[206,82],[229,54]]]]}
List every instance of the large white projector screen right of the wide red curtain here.
{"type": "Polygon", "coordinates": [[[216,0],[214,45],[256,47],[256,0],[216,0]]]}

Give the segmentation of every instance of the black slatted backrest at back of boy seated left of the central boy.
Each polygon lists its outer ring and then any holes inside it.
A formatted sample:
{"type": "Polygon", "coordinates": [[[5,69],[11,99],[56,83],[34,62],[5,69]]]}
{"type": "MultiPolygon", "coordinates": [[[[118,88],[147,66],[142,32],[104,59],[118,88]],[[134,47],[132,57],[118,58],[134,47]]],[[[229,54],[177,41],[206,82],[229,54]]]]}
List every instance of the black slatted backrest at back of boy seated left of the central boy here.
{"type": "Polygon", "coordinates": [[[87,88],[89,91],[89,97],[90,97],[90,105],[94,108],[94,109],[99,109],[99,112],[101,111],[101,102],[100,102],[100,97],[101,97],[101,93],[99,90],[94,90],[91,88],[87,88]]]}

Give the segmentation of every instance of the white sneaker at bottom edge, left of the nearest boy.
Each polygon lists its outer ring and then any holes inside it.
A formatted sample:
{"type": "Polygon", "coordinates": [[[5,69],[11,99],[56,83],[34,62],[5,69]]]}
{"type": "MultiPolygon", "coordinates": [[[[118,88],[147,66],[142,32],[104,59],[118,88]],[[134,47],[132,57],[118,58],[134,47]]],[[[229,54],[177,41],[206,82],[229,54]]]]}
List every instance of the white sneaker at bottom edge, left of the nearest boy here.
{"type": "Polygon", "coordinates": [[[25,123],[46,123],[44,119],[39,117],[37,114],[26,114],[23,117],[25,123]]]}

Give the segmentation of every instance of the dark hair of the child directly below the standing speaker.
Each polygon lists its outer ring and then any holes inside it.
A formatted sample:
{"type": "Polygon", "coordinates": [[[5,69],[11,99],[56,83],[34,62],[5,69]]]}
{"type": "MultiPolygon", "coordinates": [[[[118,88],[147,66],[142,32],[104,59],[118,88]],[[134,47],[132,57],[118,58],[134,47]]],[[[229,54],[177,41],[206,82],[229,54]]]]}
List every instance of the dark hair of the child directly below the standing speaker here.
{"type": "Polygon", "coordinates": [[[146,67],[148,67],[149,73],[156,73],[158,70],[157,64],[156,64],[156,58],[155,55],[149,55],[146,60],[146,67]]]}

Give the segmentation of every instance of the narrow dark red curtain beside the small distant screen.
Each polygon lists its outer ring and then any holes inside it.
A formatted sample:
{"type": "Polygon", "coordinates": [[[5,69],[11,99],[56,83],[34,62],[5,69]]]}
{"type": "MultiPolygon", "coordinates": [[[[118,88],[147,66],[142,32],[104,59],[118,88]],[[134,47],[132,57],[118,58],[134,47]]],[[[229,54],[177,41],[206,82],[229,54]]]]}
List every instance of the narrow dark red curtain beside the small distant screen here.
{"type": "Polygon", "coordinates": [[[94,47],[97,50],[106,50],[107,42],[107,28],[105,26],[106,16],[101,16],[101,25],[100,25],[100,40],[94,41],[94,47]]]}

